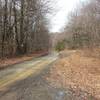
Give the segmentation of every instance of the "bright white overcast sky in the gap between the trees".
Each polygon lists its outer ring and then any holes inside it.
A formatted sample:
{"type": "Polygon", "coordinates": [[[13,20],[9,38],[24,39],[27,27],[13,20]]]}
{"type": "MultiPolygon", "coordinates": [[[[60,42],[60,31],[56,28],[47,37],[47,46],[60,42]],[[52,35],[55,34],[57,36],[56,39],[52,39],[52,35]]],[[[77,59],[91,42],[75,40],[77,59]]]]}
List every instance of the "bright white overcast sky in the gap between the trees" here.
{"type": "Polygon", "coordinates": [[[59,32],[63,29],[65,21],[69,12],[71,12],[79,2],[84,2],[85,0],[53,0],[55,3],[56,14],[51,18],[50,31],[59,32]],[[56,3],[55,3],[56,1],[56,3]]]}

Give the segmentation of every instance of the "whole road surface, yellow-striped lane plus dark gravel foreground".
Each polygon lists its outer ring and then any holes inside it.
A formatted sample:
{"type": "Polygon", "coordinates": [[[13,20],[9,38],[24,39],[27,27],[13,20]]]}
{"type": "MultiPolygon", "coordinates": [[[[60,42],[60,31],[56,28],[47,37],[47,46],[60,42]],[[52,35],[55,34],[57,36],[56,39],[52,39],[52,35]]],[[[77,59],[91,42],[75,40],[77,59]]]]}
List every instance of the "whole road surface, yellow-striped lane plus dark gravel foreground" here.
{"type": "MultiPolygon", "coordinates": [[[[45,81],[52,63],[58,59],[52,54],[20,64],[12,65],[0,71],[0,100],[83,100],[73,91],[59,89],[45,81]]],[[[96,100],[87,95],[87,100],[96,100]]]]}

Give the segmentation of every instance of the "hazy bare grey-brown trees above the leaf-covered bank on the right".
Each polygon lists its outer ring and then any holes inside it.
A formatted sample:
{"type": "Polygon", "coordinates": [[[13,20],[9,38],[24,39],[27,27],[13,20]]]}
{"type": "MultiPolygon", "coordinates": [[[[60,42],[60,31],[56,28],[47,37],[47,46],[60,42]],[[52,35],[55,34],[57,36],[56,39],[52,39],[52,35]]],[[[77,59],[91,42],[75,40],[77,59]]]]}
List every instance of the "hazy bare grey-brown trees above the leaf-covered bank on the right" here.
{"type": "Polygon", "coordinates": [[[100,46],[100,1],[90,0],[72,12],[65,32],[71,48],[100,46]]]}

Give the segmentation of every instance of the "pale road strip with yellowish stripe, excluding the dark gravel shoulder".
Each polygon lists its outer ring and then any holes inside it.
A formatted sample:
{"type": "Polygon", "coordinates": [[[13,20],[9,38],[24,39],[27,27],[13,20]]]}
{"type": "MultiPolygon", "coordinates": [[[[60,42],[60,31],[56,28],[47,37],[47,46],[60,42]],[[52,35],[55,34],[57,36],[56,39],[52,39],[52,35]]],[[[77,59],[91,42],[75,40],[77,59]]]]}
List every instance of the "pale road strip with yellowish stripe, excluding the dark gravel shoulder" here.
{"type": "Polygon", "coordinates": [[[30,61],[12,65],[0,71],[0,90],[8,87],[16,81],[23,80],[30,75],[38,75],[47,65],[54,62],[58,57],[56,55],[47,55],[30,61]]]}

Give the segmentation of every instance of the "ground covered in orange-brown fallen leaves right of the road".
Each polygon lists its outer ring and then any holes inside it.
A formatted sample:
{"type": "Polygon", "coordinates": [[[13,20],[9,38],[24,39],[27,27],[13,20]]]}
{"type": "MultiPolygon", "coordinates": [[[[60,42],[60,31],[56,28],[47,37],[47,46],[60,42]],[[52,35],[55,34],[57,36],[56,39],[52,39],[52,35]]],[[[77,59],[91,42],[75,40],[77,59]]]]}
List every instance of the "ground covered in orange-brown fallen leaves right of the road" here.
{"type": "Polygon", "coordinates": [[[54,64],[47,80],[55,86],[81,89],[99,98],[100,59],[86,57],[85,51],[74,52],[54,64]]]}

